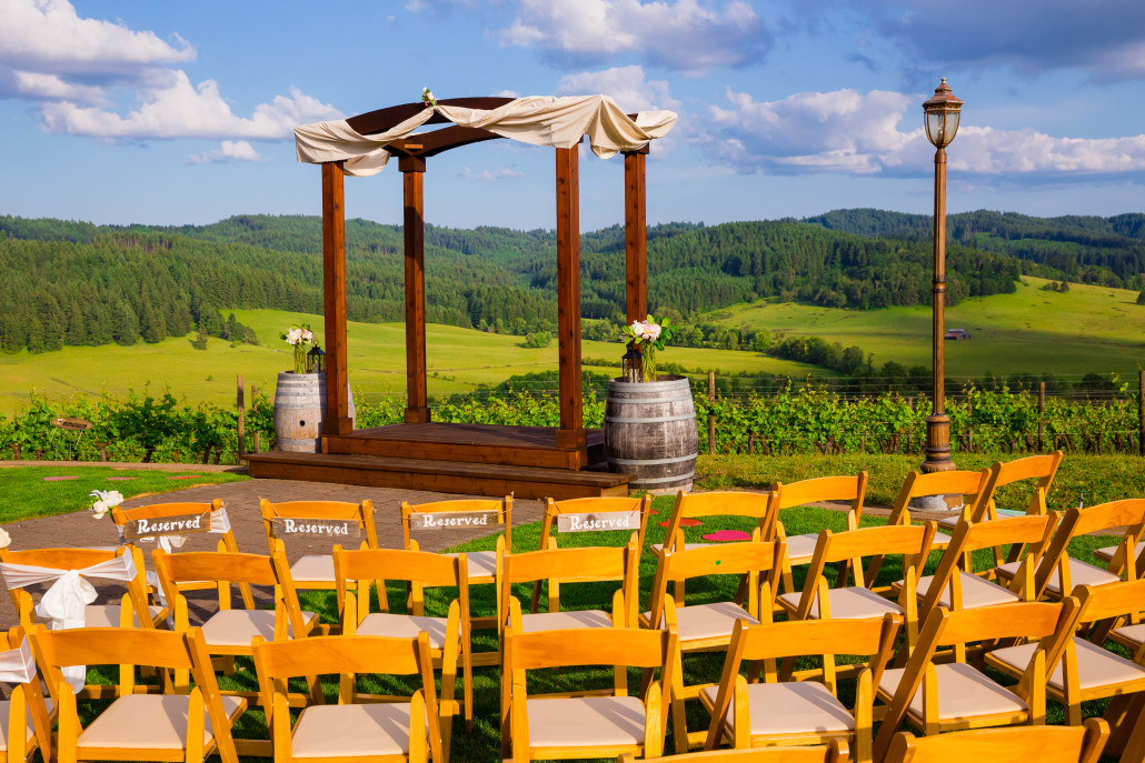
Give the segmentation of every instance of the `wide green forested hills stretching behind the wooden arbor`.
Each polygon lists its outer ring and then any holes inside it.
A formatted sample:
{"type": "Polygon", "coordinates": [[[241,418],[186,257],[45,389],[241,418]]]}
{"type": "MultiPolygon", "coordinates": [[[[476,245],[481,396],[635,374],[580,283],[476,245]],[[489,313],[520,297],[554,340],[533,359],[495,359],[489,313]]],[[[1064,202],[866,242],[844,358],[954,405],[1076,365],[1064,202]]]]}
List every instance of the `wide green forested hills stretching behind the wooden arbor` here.
{"type": "MultiPolygon", "coordinates": [[[[400,319],[401,228],[350,220],[346,231],[350,319],[400,319]]],[[[321,220],[305,216],[167,228],[0,216],[0,349],[156,342],[196,327],[237,340],[228,309],[321,312],[321,220]]],[[[582,237],[586,318],[623,320],[623,251],[621,226],[582,237]]],[[[552,231],[427,225],[427,317],[514,334],[551,329],[554,255],[552,231]]],[[[1013,291],[1017,260],[963,246],[948,255],[951,302],[1013,291]]],[[[795,221],[656,225],[648,262],[650,305],[685,319],[767,296],[851,309],[930,300],[927,240],[795,221]]]]}

